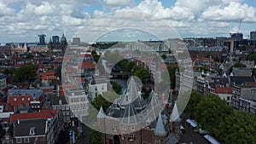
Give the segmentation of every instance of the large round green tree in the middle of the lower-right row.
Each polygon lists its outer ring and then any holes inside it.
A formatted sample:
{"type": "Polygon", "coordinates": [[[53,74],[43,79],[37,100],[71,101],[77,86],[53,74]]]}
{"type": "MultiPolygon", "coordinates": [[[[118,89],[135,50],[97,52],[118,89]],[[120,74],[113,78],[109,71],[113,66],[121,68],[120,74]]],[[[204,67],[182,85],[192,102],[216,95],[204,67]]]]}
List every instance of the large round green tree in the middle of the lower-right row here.
{"type": "Polygon", "coordinates": [[[204,130],[214,133],[224,118],[232,114],[233,109],[218,95],[205,95],[195,107],[195,120],[204,130]]]}

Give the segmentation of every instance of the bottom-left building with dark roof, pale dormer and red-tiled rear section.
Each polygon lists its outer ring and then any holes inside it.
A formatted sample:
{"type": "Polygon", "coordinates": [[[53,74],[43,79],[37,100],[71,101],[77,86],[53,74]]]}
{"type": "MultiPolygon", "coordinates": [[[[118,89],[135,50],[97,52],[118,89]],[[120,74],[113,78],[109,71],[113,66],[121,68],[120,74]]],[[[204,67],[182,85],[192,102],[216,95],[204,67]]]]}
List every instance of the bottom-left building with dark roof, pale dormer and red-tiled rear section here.
{"type": "Polygon", "coordinates": [[[14,143],[53,144],[63,130],[63,119],[59,111],[42,111],[11,116],[13,133],[3,138],[14,143]]]}

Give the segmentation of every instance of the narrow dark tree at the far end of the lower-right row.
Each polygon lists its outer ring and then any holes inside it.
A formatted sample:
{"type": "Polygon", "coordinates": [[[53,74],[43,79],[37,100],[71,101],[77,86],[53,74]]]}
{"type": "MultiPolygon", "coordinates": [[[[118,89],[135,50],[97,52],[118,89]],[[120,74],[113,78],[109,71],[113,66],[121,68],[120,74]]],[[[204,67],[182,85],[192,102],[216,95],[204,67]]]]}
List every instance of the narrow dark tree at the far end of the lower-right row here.
{"type": "Polygon", "coordinates": [[[190,112],[190,116],[194,116],[195,112],[195,107],[197,107],[197,104],[201,102],[203,98],[203,95],[195,90],[192,90],[190,98],[189,98],[189,103],[185,109],[185,112],[190,112]]]}

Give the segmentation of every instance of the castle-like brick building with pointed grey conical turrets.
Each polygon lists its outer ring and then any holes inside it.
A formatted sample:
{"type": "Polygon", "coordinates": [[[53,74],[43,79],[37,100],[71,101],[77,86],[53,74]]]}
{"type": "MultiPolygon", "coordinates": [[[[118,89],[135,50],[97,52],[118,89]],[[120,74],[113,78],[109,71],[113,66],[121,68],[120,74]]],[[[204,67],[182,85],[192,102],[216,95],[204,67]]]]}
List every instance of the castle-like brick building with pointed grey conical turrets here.
{"type": "Polygon", "coordinates": [[[97,115],[99,128],[108,133],[102,138],[105,143],[177,143],[181,121],[172,119],[165,110],[156,113],[162,106],[158,99],[154,90],[148,99],[143,99],[131,78],[125,94],[116,99],[106,113],[101,107],[97,115]],[[145,107],[150,107],[146,113],[145,107]]]}

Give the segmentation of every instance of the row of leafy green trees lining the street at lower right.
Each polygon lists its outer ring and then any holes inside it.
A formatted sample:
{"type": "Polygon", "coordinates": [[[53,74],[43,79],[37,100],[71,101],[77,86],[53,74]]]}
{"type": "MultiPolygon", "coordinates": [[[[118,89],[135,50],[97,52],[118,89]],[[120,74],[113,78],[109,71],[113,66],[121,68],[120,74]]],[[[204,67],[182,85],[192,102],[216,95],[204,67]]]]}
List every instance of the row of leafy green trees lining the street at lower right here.
{"type": "Polygon", "coordinates": [[[192,91],[186,112],[190,112],[203,130],[221,143],[256,143],[256,116],[251,112],[234,111],[218,95],[201,95],[192,91]]]}

